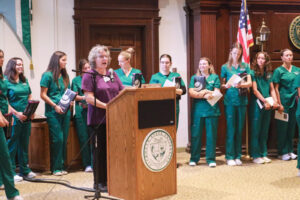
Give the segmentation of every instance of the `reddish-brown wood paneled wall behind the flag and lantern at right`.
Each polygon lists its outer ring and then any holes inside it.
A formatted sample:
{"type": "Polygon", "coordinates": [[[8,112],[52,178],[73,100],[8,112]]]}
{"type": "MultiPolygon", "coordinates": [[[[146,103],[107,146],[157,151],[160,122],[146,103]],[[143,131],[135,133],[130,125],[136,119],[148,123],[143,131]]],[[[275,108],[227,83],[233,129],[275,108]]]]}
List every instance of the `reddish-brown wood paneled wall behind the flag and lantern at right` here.
{"type": "MultiPolygon", "coordinates": [[[[300,51],[289,40],[288,30],[292,20],[300,15],[298,0],[248,0],[254,40],[262,19],[271,30],[266,51],[270,54],[273,68],[281,65],[280,50],[289,48],[294,52],[294,64],[300,66],[300,51]]],[[[188,80],[195,73],[199,58],[209,57],[220,75],[221,66],[228,59],[229,49],[236,41],[241,0],[186,0],[188,39],[188,80]]],[[[260,50],[254,45],[251,58],[260,50]]],[[[252,59],[251,59],[252,60],[252,59]]],[[[226,120],[223,104],[219,122],[219,146],[225,145],[226,120]]]]}

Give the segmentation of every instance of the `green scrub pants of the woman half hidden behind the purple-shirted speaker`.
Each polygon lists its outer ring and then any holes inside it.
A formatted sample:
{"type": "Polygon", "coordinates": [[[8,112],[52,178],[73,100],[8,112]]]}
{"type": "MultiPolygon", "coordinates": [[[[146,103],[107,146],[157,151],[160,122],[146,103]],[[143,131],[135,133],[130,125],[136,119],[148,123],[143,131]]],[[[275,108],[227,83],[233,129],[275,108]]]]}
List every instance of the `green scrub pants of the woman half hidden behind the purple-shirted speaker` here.
{"type": "Polygon", "coordinates": [[[91,166],[91,151],[90,143],[88,142],[89,136],[87,127],[87,108],[82,108],[80,105],[76,105],[76,114],[74,120],[81,149],[83,166],[91,166]]]}

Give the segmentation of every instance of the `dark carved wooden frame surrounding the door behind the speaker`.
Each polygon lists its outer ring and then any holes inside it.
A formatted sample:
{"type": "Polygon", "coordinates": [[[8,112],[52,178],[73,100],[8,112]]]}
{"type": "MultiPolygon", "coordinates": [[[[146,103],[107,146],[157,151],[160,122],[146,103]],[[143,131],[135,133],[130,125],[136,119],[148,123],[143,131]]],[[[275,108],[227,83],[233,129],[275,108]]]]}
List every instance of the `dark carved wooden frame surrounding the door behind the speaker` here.
{"type": "Polygon", "coordinates": [[[158,0],[74,0],[76,60],[86,58],[95,44],[92,27],[117,26],[143,29],[142,72],[147,81],[158,71],[158,0]]]}

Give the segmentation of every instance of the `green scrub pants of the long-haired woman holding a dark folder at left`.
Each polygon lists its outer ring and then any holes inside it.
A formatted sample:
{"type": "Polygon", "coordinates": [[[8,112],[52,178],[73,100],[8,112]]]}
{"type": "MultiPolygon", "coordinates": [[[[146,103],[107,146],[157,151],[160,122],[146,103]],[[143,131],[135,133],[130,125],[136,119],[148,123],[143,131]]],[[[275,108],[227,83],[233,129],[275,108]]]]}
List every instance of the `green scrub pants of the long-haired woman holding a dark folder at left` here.
{"type": "Polygon", "coordinates": [[[10,158],[13,167],[14,175],[16,170],[16,154],[18,153],[18,163],[20,166],[20,173],[22,175],[27,175],[31,172],[28,167],[28,146],[29,137],[31,132],[31,122],[21,122],[16,117],[14,117],[15,123],[12,127],[12,135],[8,140],[8,149],[10,153],[10,158]]]}

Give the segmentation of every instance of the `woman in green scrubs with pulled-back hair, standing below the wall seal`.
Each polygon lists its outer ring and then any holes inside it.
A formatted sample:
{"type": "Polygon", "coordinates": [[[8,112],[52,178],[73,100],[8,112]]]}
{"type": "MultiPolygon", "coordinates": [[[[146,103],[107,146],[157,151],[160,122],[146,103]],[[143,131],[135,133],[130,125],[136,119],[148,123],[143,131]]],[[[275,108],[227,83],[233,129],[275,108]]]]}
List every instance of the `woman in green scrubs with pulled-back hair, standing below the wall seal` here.
{"type": "Polygon", "coordinates": [[[293,87],[294,80],[299,74],[299,68],[292,65],[293,52],[289,49],[281,51],[282,65],[274,70],[273,84],[279,103],[279,113],[287,113],[288,121],[276,119],[277,148],[279,158],[282,160],[296,159],[293,153],[293,138],[296,128],[296,103],[297,90],[293,87]]]}

